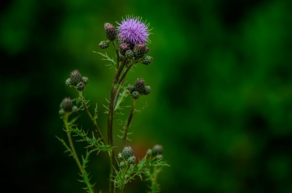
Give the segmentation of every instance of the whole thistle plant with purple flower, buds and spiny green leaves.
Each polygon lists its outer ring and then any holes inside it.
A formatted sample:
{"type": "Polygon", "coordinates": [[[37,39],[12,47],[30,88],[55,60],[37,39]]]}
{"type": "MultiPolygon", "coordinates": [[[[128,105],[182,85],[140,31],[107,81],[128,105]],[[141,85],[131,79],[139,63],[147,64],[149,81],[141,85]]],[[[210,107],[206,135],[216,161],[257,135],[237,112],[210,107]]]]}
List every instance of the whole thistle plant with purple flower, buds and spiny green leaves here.
{"type": "MultiPolygon", "coordinates": [[[[89,78],[82,76],[78,70],[73,70],[70,77],[65,81],[68,88],[76,90],[76,98],[71,99],[66,97],[60,104],[59,115],[64,123],[64,131],[67,133],[68,142],[57,137],[58,140],[66,148],[66,153],[72,156],[75,160],[80,172],[81,182],[85,184],[84,189],[89,192],[94,192],[94,185],[89,176],[89,171],[86,170],[87,163],[93,152],[108,152],[109,155],[109,192],[115,193],[119,190],[123,193],[126,184],[131,182],[135,177],[140,177],[141,180],[146,179],[148,183],[149,193],[157,193],[160,191],[157,183],[157,176],[161,172],[163,166],[168,166],[163,160],[161,145],[155,145],[152,149],[148,149],[145,157],[138,160],[135,157],[135,152],[129,146],[128,131],[131,126],[133,115],[137,112],[136,104],[140,97],[151,93],[151,87],[146,85],[143,78],[137,78],[133,84],[126,85],[126,77],[132,68],[139,67],[139,63],[149,65],[152,62],[152,57],[146,55],[149,52],[147,43],[149,42],[149,24],[145,24],[142,19],[137,17],[127,17],[117,22],[118,27],[110,23],[105,23],[104,30],[107,40],[99,43],[100,49],[108,49],[110,45],[115,50],[116,59],[110,58],[107,53],[98,53],[103,56],[103,60],[110,62],[110,67],[115,69],[114,78],[110,88],[109,104],[104,105],[108,115],[107,128],[100,128],[98,125],[98,109],[97,105],[92,109],[89,108],[89,100],[84,97],[89,78]],[[132,99],[131,109],[128,119],[124,121],[122,135],[118,135],[121,140],[113,141],[113,135],[117,133],[119,125],[114,127],[113,120],[121,115],[124,110],[125,99],[132,99]],[[82,129],[76,122],[79,113],[85,111],[93,129],[91,132],[82,129]],[[104,135],[106,132],[106,135],[104,135]],[[106,138],[104,138],[106,136],[106,138]],[[76,137],[77,140],[72,139],[76,137]],[[78,155],[74,142],[83,142],[85,144],[85,155],[78,155]],[[115,149],[121,145],[122,152],[116,152],[115,149]],[[145,178],[144,178],[145,177],[145,178]]],[[[108,177],[108,176],[105,176],[108,177]]],[[[95,187],[95,189],[98,189],[95,187]]],[[[97,191],[98,192],[98,191],[97,191]]]]}

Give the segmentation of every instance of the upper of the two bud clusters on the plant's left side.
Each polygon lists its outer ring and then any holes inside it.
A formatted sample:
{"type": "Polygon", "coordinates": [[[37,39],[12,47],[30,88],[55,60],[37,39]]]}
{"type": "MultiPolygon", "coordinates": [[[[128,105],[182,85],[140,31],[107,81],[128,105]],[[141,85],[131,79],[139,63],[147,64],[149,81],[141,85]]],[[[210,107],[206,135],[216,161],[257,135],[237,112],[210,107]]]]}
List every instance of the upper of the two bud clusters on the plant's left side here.
{"type": "Polygon", "coordinates": [[[83,91],[87,83],[88,78],[85,76],[82,77],[78,70],[73,70],[70,73],[70,78],[66,80],[67,87],[74,87],[78,91],[83,91]]]}

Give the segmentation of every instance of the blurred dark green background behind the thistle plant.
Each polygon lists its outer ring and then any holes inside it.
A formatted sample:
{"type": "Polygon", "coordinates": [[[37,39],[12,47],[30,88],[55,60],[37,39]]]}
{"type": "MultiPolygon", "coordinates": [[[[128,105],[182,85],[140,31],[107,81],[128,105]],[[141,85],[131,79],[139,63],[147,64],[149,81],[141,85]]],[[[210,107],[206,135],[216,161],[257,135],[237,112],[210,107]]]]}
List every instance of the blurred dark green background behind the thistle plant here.
{"type": "MultiPolygon", "coordinates": [[[[163,193],[292,192],[292,3],[288,0],[12,0],[0,12],[0,142],[9,192],[82,193],[58,106],[76,97],[78,69],[99,106],[114,70],[101,51],[103,24],[126,15],[150,22],[153,63],[137,65],[152,93],[138,101],[129,143],[138,158],[156,143],[171,167],[163,193]]],[[[106,52],[114,56],[113,48],[106,52]]],[[[130,100],[126,101],[130,105],[130,100]]],[[[125,110],[126,119],[129,108],[125,110]]],[[[91,129],[84,112],[79,124],[91,129]]],[[[115,122],[114,135],[121,126],[115,122]]],[[[115,138],[115,144],[120,144],[115,138]]],[[[79,144],[80,145],[80,144],[79,144]]],[[[120,151],[121,147],[117,148],[120,151]]],[[[84,151],[77,145],[77,151],[84,151]]],[[[91,156],[95,192],[108,190],[108,155],[91,156]]],[[[146,192],[140,179],[125,192],[146,192]]],[[[2,188],[3,188],[2,187],[2,188]]]]}

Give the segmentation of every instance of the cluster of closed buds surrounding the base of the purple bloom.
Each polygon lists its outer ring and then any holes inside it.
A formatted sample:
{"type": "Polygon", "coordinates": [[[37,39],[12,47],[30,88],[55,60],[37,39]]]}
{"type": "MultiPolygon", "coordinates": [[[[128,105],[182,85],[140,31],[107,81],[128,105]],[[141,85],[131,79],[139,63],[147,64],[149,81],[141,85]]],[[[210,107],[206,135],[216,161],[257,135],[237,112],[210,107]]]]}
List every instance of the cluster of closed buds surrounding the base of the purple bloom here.
{"type": "MultiPolygon", "coordinates": [[[[99,47],[101,49],[107,49],[110,45],[110,42],[115,41],[117,37],[117,42],[119,45],[119,53],[128,58],[129,60],[135,59],[136,62],[148,65],[152,62],[151,56],[144,56],[149,52],[149,48],[146,46],[145,41],[134,44],[133,42],[127,40],[124,35],[117,34],[116,28],[110,24],[105,23],[105,33],[108,40],[101,41],[99,47]]],[[[138,32],[137,32],[138,33],[138,32]]]]}

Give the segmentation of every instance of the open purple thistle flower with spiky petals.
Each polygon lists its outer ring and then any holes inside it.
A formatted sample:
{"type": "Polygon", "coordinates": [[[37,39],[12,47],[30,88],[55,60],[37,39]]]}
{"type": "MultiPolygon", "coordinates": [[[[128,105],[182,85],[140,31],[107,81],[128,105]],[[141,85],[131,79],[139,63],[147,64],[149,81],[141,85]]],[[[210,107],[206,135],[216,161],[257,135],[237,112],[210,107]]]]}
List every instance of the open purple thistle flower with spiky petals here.
{"type": "Polygon", "coordinates": [[[149,24],[145,24],[139,17],[127,17],[122,23],[118,23],[119,36],[124,38],[124,41],[137,45],[148,41],[149,24]]]}

